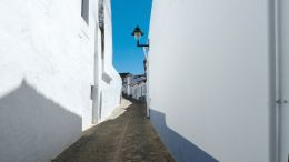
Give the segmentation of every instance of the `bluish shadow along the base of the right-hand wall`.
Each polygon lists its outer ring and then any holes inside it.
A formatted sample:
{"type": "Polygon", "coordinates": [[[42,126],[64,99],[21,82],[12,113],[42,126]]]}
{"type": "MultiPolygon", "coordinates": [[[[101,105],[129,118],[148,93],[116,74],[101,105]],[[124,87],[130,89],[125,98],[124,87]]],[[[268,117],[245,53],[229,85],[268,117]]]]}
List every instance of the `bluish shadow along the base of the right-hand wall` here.
{"type": "Polygon", "coordinates": [[[218,162],[189,140],[167,126],[166,114],[150,109],[151,122],[168,151],[178,162],[218,162]]]}

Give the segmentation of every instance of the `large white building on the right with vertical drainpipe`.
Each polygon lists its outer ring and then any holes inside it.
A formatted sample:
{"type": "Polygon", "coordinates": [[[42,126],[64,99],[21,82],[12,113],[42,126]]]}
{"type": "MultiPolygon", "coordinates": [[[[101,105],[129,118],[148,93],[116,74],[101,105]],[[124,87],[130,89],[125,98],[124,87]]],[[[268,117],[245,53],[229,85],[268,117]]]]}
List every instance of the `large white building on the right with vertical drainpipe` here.
{"type": "Polygon", "coordinates": [[[150,118],[177,161],[288,161],[288,0],[153,1],[150,118]]]}

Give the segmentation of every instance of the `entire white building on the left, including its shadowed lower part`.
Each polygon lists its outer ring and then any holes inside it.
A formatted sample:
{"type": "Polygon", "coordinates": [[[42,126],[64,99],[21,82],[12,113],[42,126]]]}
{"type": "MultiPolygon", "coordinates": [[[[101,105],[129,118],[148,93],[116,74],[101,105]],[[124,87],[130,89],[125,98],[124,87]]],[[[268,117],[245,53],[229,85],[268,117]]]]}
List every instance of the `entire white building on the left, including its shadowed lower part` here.
{"type": "Polygon", "coordinates": [[[110,0],[1,0],[0,14],[0,161],[48,161],[120,102],[110,0]]]}

